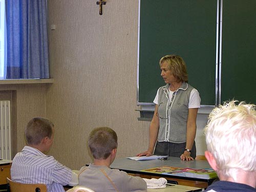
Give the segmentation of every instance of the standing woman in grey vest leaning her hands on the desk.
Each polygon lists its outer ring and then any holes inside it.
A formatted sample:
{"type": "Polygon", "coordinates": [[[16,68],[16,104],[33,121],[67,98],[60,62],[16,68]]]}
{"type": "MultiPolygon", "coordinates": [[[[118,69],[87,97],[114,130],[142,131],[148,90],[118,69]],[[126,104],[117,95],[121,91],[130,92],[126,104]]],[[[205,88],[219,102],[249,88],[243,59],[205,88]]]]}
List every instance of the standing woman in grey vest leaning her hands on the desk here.
{"type": "Polygon", "coordinates": [[[166,85],[158,89],[154,99],[148,149],[138,156],[151,156],[154,152],[180,157],[183,161],[194,160],[199,92],[187,83],[186,65],[180,56],[166,55],[159,63],[166,85]]]}

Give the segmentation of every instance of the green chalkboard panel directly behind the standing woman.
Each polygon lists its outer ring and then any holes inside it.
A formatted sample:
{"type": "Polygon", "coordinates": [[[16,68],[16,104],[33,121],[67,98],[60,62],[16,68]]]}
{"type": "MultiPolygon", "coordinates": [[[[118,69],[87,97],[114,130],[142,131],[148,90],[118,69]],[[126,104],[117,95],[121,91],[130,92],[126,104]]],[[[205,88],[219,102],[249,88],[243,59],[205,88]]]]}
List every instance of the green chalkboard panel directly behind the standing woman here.
{"type": "Polygon", "coordinates": [[[167,54],[183,57],[201,104],[216,104],[216,25],[216,0],[140,1],[138,104],[153,103],[164,85],[159,60],[167,54]]]}

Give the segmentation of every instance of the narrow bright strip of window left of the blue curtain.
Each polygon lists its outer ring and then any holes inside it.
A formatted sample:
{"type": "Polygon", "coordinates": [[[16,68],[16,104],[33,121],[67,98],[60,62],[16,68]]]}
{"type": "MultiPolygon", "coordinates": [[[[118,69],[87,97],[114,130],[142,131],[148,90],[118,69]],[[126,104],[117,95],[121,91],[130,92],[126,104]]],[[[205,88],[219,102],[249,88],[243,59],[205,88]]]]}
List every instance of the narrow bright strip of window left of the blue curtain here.
{"type": "Polygon", "coordinates": [[[0,78],[5,69],[5,0],[0,0],[0,78]]]}

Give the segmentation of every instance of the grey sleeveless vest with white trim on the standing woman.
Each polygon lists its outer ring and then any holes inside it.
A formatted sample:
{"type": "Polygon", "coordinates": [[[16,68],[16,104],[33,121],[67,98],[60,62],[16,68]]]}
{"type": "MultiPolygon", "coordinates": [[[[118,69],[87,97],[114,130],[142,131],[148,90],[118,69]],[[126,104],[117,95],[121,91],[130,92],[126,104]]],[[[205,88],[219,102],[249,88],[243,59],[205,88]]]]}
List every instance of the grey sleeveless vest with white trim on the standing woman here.
{"type": "Polygon", "coordinates": [[[184,143],[186,142],[189,97],[194,88],[183,82],[181,87],[174,92],[171,100],[169,100],[168,89],[169,84],[159,89],[157,115],[160,117],[160,126],[158,141],[184,143]]]}

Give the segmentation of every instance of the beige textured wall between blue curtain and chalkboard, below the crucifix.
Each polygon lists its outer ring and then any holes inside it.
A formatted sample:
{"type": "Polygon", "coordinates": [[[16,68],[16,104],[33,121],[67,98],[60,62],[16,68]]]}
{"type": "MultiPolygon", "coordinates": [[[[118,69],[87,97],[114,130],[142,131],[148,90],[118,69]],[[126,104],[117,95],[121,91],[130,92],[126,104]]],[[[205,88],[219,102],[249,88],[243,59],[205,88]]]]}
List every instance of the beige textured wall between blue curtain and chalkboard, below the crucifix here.
{"type": "Polygon", "coordinates": [[[56,126],[51,154],[71,168],[91,162],[86,142],[97,126],[118,135],[117,157],[147,147],[149,122],[138,121],[138,1],[50,0],[50,61],[54,84],[47,115],[56,126]]]}

